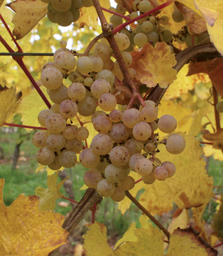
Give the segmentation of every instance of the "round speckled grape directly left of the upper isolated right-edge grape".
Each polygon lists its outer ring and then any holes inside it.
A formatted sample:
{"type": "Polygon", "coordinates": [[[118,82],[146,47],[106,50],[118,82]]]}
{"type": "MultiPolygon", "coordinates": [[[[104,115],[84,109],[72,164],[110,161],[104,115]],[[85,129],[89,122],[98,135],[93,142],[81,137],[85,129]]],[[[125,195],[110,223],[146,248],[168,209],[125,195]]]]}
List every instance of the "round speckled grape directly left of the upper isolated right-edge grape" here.
{"type": "Polygon", "coordinates": [[[144,141],[147,140],[152,134],[151,127],[146,122],[139,122],[133,128],[133,136],[135,139],[144,141]]]}

